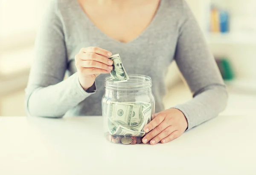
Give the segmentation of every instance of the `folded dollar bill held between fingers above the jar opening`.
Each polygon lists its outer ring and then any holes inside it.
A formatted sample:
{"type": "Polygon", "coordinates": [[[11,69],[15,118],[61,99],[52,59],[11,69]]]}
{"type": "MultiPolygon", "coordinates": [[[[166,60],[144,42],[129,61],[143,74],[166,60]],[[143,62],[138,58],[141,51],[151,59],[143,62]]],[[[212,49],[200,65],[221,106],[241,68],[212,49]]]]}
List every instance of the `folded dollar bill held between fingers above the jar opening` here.
{"type": "Polygon", "coordinates": [[[129,80],[129,77],[122,65],[121,58],[119,54],[112,55],[109,59],[113,60],[113,70],[110,72],[113,81],[116,83],[121,83],[129,80]]]}

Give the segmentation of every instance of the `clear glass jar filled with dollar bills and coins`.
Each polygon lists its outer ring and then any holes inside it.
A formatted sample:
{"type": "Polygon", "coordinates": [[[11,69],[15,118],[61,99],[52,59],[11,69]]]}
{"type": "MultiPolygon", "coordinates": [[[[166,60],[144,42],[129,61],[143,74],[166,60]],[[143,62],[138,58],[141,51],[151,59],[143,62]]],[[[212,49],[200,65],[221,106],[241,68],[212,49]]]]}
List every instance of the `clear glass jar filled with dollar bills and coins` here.
{"type": "Polygon", "coordinates": [[[112,143],[142,143],[144,127],[155,111],[151,77],[128,76],[122,83],[113,82],[111,76],[105,78],[102,115],[105,138],[112,143]]]}

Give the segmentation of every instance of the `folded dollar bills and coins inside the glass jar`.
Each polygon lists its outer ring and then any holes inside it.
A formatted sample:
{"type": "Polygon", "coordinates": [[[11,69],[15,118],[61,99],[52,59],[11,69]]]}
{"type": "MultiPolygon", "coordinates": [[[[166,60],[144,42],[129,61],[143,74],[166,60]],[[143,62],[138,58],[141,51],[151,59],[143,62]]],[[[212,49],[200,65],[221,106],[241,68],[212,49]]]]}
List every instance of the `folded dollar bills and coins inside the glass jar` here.
{"type": "Polygon", "coordinates": [[[103,106],[107,109],[103,117],[108,120],[108,133],[105,133],[108,141],[141,143],[144,127],[151,121],[151,103],[103,100],[103,106]]]}

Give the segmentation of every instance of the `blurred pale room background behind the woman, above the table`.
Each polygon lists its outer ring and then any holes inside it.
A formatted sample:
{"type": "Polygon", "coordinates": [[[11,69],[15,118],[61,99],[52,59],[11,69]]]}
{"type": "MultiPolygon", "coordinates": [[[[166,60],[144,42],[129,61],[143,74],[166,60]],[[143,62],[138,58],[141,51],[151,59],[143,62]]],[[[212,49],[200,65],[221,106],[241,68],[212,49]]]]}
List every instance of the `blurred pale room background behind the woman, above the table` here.
{"type": "MultiPolygon", "coordinates": [[[[225,114],[252,113],[256,104],[256,1],[186,0],[230,93],[225,114]]],[[[24,116],[24,89],[33,47],[49,0],[0,1],[0,115],[24,116]]],[[[196,57],[196,55],[194,55],[196,57]]],[[[166,108],[192,98],[174,63],[166,78],[166,108]]],[[[216,97],[218,98],[218,97],[216,97]]]]}

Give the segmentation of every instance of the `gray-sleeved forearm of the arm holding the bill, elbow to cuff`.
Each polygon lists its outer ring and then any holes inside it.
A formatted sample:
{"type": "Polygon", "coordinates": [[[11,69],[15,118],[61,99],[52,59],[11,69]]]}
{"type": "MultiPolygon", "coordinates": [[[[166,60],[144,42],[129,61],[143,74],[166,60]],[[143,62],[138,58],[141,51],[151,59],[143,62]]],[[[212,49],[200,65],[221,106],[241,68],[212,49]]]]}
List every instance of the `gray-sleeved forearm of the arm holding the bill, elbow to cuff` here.
{"type": "Polygon", "coordinates": [[[28,115],[32,116],[62,117],[69,109],[93,93],[84,91],[75,73],[55,85],[29,86],[26,89],[26,110],[28,115]]]}

